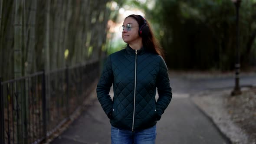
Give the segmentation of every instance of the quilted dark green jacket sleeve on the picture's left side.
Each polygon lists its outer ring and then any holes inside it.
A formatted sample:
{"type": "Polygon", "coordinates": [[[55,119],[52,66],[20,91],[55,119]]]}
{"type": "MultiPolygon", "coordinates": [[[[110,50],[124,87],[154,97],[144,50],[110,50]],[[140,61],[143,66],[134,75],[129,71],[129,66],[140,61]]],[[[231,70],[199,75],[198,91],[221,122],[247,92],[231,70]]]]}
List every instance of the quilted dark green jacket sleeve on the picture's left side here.
{"type": "Polygon", "coordinates": [[[101,104],[108,118],[111,118],[111,112],[113,107],[113,102],[109,95],[109,91],[113,81],[114,81],[114,76],[112,71],[111,55],[110,55],[108,56],[108,59],[105,62],[101,77],[97,85],[98,101],[101,104]]]}

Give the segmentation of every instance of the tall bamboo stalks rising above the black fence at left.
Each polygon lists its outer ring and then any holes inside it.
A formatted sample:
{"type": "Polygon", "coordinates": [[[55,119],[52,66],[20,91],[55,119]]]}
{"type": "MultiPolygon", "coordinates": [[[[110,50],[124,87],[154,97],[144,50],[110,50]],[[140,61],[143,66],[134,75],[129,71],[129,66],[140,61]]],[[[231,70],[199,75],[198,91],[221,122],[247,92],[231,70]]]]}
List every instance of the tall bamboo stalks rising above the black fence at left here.
{"type": "Polygon", "coordinates": [[[111,0],[0,0],[3,80],[100,59],[111,0]]]}

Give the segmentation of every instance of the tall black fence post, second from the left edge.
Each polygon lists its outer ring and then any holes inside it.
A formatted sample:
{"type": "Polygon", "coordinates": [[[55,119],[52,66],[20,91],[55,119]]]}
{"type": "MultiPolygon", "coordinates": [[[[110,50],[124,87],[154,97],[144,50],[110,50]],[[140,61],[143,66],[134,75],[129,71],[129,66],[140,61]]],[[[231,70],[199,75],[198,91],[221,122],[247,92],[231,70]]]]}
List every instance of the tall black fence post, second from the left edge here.
{"type": "Polygon", "coordinates": [[[46,141],[47,138],[47,128],[46,128],[46,79],[45,79],[45,71],[43,70],[42,76],[42,113],[43,113],[43,137],[46,141]]]}

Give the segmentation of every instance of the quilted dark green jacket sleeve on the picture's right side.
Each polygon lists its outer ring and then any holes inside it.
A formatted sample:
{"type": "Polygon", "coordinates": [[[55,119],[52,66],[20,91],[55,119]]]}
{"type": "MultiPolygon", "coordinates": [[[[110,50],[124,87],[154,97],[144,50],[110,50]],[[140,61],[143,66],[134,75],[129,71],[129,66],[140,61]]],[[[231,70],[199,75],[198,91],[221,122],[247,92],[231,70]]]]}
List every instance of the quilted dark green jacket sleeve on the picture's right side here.
{"type": "Polygon", "coordinates": [[[172,98],[168,69],[162,57],[159,62],[159,72],[156,86],[158,88],[159,95],[158,101],[156,103],[157,120],[160,120],[161,115],[164,113],[164,110],[167,108],[172,98]]]}

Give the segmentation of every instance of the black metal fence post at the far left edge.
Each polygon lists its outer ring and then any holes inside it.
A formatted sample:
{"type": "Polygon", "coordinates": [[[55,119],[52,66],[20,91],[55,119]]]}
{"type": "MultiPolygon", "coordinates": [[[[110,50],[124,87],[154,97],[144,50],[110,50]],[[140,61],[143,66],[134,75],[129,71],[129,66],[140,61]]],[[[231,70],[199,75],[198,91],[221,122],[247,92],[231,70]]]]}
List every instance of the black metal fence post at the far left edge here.
{"type": "Polygon", "coordinates": [[[0,77],[0,144],[4,144],[4,114],[3,114],[3,88],[2,78],[0,77]]]}

